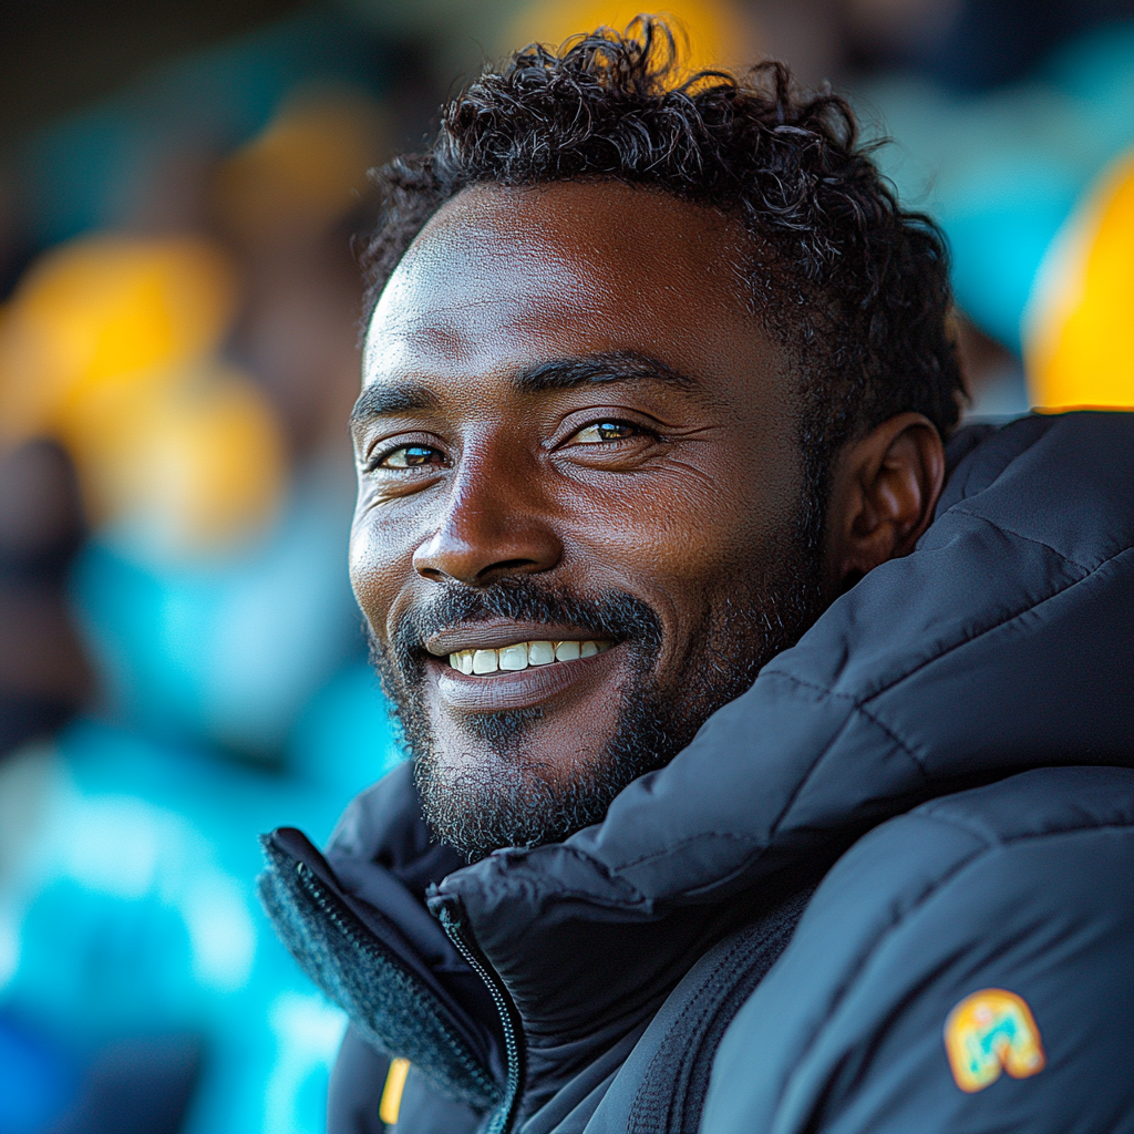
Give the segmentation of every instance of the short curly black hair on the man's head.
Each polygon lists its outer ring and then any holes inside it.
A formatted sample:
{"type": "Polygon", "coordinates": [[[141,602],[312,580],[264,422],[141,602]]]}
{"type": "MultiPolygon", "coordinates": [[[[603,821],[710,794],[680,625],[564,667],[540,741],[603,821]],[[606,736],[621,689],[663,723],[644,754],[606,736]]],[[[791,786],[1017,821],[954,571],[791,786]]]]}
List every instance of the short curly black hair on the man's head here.
{"type": "Polygon", "coordinates": [[[821,524],[846,441],[904,411],[947,435],[964,397],[945,238],[900,208],[875,145],[845,99],[802,91],[781,62],[685,77],[658,19],[558,52],[532,44],[442,108],[425,152],[372,175],[383,208],[361,257],[366,318],[429,218],[471,185],[610,178],[735,217],[751,237],[751,310],[798,374],[821,524]]]}

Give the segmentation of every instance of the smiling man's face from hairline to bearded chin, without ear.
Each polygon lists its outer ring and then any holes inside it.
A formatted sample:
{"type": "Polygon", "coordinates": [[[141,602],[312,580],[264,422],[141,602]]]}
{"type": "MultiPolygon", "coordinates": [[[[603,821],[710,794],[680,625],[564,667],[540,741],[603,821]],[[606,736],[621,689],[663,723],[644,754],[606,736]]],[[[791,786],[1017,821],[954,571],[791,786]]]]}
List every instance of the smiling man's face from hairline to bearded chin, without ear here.
{"type": "Polygon", "coordinates": [[[795,395],[739,226],[477,187],[387,285],[355,593],[426,818],[476,857],[602,818],[814,616],[795,395]]]}

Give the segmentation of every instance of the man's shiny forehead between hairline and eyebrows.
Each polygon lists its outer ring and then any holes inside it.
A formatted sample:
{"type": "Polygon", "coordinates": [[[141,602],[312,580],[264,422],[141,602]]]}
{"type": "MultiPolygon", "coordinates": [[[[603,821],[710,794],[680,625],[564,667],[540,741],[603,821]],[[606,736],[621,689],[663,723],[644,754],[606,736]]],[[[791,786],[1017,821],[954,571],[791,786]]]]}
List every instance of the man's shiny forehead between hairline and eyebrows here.
{"type": "Polygon", "coordinates": [[[617,181],[466,189],[382,291],[364,386],[627,349],[703,376],[753,350],[767,361],[746,303],[746,251],[737,221],[617,181]]]}

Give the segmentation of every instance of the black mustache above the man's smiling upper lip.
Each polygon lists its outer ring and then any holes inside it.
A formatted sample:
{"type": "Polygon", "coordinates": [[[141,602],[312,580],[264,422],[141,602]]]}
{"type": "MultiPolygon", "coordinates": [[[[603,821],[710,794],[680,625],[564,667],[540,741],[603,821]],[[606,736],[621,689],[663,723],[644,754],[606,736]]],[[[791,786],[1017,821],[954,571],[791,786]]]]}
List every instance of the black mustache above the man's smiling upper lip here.
{"type": "Polygon", "coordinates": [[[633,594],[607,591],[587,598],[519,576],[479,590],[459,583],[438,584],[426,601],[406,613],[382,652],[392,655],[401,674],[412,679],[424,670],[422,653],[429,636],[452,626],[501,618],[556,623],[595,637],[631,642],[643,665],[652,662],[661,650],[661,619],[649,603],[633,594]]]}

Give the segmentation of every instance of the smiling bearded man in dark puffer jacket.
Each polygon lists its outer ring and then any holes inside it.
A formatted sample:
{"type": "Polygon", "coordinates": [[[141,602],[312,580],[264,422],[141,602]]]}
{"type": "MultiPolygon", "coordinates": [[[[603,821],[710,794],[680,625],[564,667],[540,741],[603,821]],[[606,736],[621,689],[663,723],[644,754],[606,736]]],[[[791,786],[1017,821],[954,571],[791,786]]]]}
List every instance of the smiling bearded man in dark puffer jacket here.
{"type": "Polygon", "coordinates": [[[262,881],[331,1129],[1129,1128],[1129,420],[957,432],[845,104],[649,23],[382,181],[350,569],[413,763],[262,881]]]}

